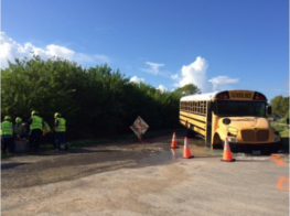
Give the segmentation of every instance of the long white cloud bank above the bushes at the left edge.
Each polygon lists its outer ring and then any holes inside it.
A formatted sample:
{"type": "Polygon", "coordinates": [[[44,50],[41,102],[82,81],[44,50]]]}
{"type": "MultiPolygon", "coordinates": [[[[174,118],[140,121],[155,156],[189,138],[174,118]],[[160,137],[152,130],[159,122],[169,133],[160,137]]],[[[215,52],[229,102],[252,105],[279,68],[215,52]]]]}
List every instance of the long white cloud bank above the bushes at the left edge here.
{"type": "Polygon", "coordinates": [[[61,57],[68,61],[77,62],[78,64],[86,63],[109,63],[110,58],[106,55],[87,55],[84,53],[76,53],[65,46],[56,44],[49,44],[45,47],[37,47],[31,42],[20,44],[9,39],[4,32],[0,33],[0,66],[1,68],[8,67],[8,60],[13,62],[14,58],[22,60],[23,57],[31,58],[33,54],[40,55],[43,60],[50,57],[61,57]]]}

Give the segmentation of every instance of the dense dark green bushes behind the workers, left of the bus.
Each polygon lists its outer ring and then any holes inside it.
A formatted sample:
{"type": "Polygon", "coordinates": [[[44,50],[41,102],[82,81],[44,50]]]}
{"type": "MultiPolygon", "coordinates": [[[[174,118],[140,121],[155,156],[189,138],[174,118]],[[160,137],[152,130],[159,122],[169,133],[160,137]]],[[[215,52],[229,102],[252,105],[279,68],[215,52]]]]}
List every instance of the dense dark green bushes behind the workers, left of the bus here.
{"type": "Polygon", "coordinates": [[[71,139],[129,132],[138,116],[151,129],[175,127],[180,97],[176,91],[130,83],[106,64],[83,68],[74,62],[34,56],[1,69],[1,116],[26,121],[37,110],[53,126],[57,111],[67,120],[71,139]]]}

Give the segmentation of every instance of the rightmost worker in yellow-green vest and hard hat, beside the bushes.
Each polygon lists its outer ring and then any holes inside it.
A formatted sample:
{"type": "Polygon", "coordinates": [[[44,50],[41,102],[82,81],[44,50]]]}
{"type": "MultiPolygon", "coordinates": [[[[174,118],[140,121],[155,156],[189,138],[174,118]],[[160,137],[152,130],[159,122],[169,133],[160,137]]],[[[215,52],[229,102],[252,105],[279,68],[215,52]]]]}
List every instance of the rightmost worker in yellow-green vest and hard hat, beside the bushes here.
{"type": "Polygon", "coordinates": [[[66,140],[65,140],[65,131],[66,131],[66,121],[64,118],[61,118],[61,114],[56,112],[54,115],[55,123],[53,131],[55,131],[55,141],[56,141],[56,151],[61,151],[61,143],[64,143],[64,150],[68,150],[66,140]]]}

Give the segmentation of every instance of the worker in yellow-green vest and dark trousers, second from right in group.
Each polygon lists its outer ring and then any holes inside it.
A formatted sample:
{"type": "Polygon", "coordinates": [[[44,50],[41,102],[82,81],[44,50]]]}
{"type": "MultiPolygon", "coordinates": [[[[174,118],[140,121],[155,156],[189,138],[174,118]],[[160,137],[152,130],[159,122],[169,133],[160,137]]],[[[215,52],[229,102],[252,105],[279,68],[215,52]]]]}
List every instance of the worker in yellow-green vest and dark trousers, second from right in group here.
{"type": "Polygon", "coordinates": [[[29,143],[31,151],[37,152],[42,141],[42,129],[44,127],[43,119],[39,117],[37,111],[31,112],[31,118],[26,123],[22,123],[22,127],[30,126],[29,143]]]}

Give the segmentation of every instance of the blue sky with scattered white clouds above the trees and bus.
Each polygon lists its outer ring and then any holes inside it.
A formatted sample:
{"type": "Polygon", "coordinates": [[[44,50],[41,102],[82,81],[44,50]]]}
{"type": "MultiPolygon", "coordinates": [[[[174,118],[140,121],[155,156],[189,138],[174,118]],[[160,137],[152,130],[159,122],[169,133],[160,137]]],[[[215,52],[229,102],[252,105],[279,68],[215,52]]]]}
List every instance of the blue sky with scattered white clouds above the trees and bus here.
{"type": "Polygon", "coordinates": [[[2,0],[7,60],[107,63],[161,90],[289,96],[288,0],[2,0]]]}

